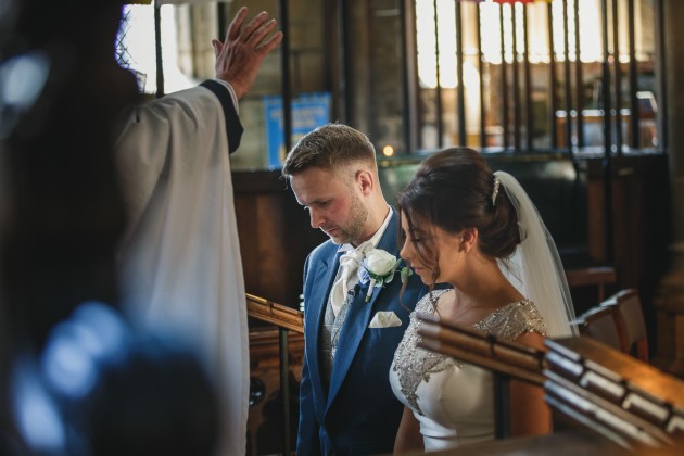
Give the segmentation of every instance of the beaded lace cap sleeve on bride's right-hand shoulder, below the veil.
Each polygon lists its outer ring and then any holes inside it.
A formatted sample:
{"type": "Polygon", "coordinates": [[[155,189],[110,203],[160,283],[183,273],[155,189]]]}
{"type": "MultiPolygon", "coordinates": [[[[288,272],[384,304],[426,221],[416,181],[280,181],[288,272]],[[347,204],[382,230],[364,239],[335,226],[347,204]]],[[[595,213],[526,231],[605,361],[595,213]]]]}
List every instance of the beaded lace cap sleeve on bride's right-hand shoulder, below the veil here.
{"type": "Polygon", "coordinates": [[[527,332],[536,332],[542,337],[548,335],[544,317],[530,300],[507,304],[476,326],[477,329],[505,340],[516,340],[527,332]]]}

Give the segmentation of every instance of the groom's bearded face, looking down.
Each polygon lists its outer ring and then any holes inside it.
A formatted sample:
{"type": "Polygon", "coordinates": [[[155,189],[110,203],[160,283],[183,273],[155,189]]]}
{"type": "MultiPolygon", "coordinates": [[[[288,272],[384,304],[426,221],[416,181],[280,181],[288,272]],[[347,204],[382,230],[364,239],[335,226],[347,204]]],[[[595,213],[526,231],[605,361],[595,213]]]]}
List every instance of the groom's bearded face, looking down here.
{"type": "Polygon", "coordinates": [[[335,244],[358,244],[368,210],[354,186],[334,173],[308,168],[293,175],[290,186],[309,214],[312,228],[320,228],[335,244]]]}

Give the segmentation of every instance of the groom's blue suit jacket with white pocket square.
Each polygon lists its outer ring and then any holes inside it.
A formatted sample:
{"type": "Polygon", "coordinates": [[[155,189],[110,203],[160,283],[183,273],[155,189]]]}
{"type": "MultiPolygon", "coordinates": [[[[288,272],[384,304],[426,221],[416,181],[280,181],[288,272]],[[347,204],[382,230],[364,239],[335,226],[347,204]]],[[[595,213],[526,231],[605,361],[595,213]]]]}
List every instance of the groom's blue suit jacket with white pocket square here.
{"type": "MultiPolygon", "coordinates": [[[[398,257],[396,211],[377,249],[398,257]]],[[[346,320],[340,330],[337,355],[326,391],[320,365],[320,334],[328,294],[340,254],[331,241],[314,250],[304,269],[304,365],[300,389],[297,455],[364,455],[391,453],[403,407],[390,387],[394,351],[408,326],[408,317],[427,292],[416,275],[402,296],[398,273],[392,282],[375,288],[365,302],[368,283],[356,287],[346,320]],[[391,311],[401,327],[368,328],[378,311],[391,311]]],[[[403,262],[398,266],[402,268],[403,262]]],[[[398,269],[397,269],[398,270],[398,269]]]]}

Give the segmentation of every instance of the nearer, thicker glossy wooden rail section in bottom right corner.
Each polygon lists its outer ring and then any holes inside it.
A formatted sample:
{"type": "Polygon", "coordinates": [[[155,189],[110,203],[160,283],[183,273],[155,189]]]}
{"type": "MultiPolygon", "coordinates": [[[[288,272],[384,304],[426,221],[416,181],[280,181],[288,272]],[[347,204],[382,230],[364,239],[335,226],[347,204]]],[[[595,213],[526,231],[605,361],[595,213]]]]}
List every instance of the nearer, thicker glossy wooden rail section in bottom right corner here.
{"type": "Polygon", "coordinates": [[[684,433],[684,382],[591,338],[545,342],[547,402],[620,446],[671,447],[684,433]]]}

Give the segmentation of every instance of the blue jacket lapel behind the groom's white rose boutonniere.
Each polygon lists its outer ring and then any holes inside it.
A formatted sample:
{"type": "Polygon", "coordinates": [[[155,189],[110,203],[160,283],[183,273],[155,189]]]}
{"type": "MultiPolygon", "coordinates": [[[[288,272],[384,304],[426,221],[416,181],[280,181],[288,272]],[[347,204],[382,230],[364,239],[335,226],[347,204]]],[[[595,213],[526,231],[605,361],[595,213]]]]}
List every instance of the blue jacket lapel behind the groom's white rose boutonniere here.
{"type": "MultiPolygon", "coordinates": [[[[392,211],[392,218],[388,224],[388,227],[376,245],[376,249],[384,250],[392,255],[397,256],[397,245],[396,245],[396,229],[397,229],[397,216],[394,210],[392,211]]],[[[395,277],[394,280],[398,280],[398,277],[395,277]]],[[[372,307],[375,306],[378,296],[382,293],[384,288],[375,288],[372,291],[372,296],[369,302],[366,302],[366,293],[368,289],[365,287],[358,287],[356,289],[356,296],[351,304],[351,308],[346,314],[346,320],[340,331],[340,342],[342,345],[338,345],[337,355],[334,358],[334,364],[332,367],[332,378],[330,379],[330,391],[328,394],[328,406],[330,407],[334,397],[337,396],[340,388],[342,387],[342,382],[346,377],[346,373],[354,360],[354,356],[358,350],[358,345],[360,344],[364,334],[366,333],[366,329],[370,324],[370,316],[372,313],[372,307]]],[[[388,373],[389,375],[389,373],[388,373]]]]}

